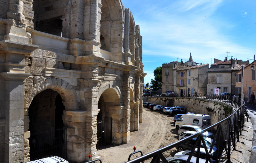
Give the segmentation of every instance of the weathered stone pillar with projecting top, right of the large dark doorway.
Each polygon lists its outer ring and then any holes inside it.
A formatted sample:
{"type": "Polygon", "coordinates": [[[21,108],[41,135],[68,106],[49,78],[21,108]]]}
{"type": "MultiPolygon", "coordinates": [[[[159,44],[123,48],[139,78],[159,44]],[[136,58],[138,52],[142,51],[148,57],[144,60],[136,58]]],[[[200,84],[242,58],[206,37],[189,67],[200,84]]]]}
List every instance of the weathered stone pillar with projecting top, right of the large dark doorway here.
{"type": "Polygon", "coordinates": [[[85,162],[88,157],[85,152],[86,114],[86,111],[63,111],[62,119],[67,128],[67,159],[72,162],[85,162]]]}

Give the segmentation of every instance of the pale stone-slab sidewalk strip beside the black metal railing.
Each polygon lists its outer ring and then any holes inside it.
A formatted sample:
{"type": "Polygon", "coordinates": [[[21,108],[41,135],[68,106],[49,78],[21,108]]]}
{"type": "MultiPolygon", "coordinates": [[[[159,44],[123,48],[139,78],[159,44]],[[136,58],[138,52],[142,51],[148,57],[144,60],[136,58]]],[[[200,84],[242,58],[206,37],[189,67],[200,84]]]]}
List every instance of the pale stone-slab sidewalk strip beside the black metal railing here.
{"type": "MultiPolygon", "coordinates": [[[[250,106],[250,104],[246,104],[246,106],[249,108],[255,108],[250,106]]],[[[251,120],[249,119],[249,122],[247,122],[247,119],[245,117],[244,122],[244,130],[242,131],[242,135],[239,136],[239,141],[236,143],[236,149],[242,151],[242,153],[238,151],[233,151],[231,154],[231,161],[233,163],[245,163],[250,162],[251,157],[251,151],[252,151],[252,140],[253,140],[253,128],[251,120]],[[244,142],[241,143],[241,142],[244,142]]]]}

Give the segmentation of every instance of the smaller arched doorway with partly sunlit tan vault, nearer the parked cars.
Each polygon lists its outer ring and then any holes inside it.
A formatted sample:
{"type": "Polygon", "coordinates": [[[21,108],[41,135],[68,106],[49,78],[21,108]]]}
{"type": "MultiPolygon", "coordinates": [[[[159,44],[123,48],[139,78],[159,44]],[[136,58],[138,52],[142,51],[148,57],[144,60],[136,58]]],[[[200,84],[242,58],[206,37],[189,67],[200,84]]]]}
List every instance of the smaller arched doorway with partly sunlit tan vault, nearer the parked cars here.
{"type": "Polygon", "coordinates": [[[117,113],[116,106],[120,106],[119,96],[115,89],[108,88],[100,95],[98,101],[99,113],[97,115],[97,145],[99,150],[101,146],[111,144],[112,137],[115,137],[115,133],[122,128],[120,126],[120,119],[116,118],[117,113]],[[114,117],[113,117],[114,116],[114,117]]]}

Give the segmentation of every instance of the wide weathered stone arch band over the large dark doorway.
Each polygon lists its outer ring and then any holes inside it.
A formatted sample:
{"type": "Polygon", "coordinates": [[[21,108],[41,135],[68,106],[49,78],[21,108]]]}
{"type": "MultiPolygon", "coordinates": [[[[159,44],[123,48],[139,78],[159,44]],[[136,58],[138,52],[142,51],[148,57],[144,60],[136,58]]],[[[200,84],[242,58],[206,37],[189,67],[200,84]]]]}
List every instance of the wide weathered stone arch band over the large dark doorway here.
{"type": "Polygon", "coordinates": [[[58,78],[48,78],[34,84],[25,93],[25,108],[28,109],[33,98],[45,89],[52,89],[60,94],[64,101],[65,110],[79,110],[80,100],[76,95],[75,89],[68,82],[58,78]]]}

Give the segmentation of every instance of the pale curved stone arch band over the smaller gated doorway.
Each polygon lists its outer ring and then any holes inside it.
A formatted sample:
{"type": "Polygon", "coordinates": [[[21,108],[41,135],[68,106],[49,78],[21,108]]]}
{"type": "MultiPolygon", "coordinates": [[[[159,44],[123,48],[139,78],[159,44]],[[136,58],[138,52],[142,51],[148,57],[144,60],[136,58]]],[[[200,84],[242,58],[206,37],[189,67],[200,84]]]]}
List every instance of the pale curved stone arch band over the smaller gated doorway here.
{"type": "Polygon", "coordinates": [[[123,103],[123,97],[122,97],[122,94],[121,94],[121,90],[120,90],[120,88],[119,88],[114,82],[112,82],[112,81],[110,81],[110,82],[105,82],[105,83],[103,83],[103,84],[100,86],[100,88],[98,89],[98,97],[97,97],[97,98],[98,98],[98,101],[99,101],[100,96],[102,95],[102,93],[103,93],[106,89],[108,89],[108,88],[114,89],[115,92],[117,93],[117,96],[118,96],[118,98],[119,98],[120,103],[123,103]]]}

